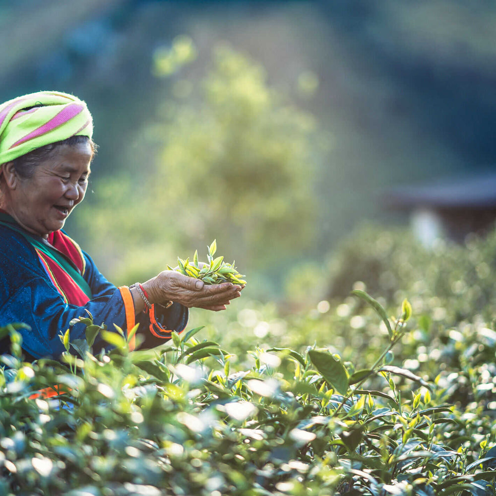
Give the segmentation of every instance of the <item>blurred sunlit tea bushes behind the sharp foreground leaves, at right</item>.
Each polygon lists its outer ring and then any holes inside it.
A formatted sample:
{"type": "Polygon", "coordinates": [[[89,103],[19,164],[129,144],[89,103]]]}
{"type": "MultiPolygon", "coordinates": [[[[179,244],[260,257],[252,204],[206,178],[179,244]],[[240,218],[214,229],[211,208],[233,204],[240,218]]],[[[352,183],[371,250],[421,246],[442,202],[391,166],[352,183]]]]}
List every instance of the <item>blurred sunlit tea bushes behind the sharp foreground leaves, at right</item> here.
{"type": "MultiPolygon", "coordinates": [[[[395,346],[394,365],[421,373],[426,380],[464,369],[470,375],[476,366],[494,368],[487,346],[496,345],[495,252],[494,232],[470,236],[463,245],[439,240],[434,248],[426,248],[405,228],[365,224],[332,252],[324,264],[324,283],[311,283],[310,265],[303,275],[289,279],[294,289],[289,294],[296,298],[290,301],[289,312],[274,302],[240,300],[237,311],[193,311],[191,325],[205,324],[202,332],[207,338],[223,329],[223,346],[238,350],[240,360],[247,360],[255,345],[302,353],[316,345],[349,361],[353,372],[377,358],[380,343],[388,336],[377,314],[350,295],[359,289],[374,295],[388,315],[395,315],[405,298],[412,305],[409,332],[395,346]],[[318,301],[322,294],[325,299],[318,301]]],[[[390,319],[394,322],[394,316],[390,319]]],[[[459,386],[470,382],[468,375],[459,386]]],[[[456,377],[449,381],[456,382],[456,377]]],[[[488,395],[491,400],[496,392],[493,378],[488,375],[491,387],[485,389],[493,392],[488,395]]],[[[458,393],[456,401],[465,405],[471,401],[468,392],[465,397],[458,393]]]]}

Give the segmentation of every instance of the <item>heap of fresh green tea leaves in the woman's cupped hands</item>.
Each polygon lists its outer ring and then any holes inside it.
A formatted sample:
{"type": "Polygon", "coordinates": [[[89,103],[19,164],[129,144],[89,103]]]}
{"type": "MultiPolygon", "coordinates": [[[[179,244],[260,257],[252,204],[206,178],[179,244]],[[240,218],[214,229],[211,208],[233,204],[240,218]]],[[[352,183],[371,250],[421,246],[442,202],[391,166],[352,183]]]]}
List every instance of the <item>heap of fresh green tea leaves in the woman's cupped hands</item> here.
{"type": "Polygon", "coordinates": [[[198,250],[195,250],[192,263],[189,262],[189,258],[183,260],[178,257],[179,267],[173,269],[170,265],[167,265],[167,268],[169,270],[177,270],[185,276],[201,279],[205,284],[232,282],[233,284],[241,284],[244,286],[247,283],[243,279],[245,276],[236,270],[234,262],[225,262],[223,256],[214,258],[215,252],[217,251],[216,240],[214,240],[210,246],[207,246],[207,248],[208,263],[203,264],[203,266],[201,266],[201,262],[198,263],[198,250]]]}

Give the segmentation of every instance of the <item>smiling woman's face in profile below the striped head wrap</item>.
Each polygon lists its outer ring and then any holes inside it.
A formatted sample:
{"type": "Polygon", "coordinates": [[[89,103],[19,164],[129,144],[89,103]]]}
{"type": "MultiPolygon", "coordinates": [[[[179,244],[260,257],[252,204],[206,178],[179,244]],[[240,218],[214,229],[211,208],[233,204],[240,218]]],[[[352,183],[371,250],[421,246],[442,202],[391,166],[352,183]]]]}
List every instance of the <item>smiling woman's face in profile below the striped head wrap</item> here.
{"type": "Polygon", "coordinates": [[[31,178],[16,176],[5,209],[24,229],[47,238],[83,200],[92,157],[89,143],[58,146],[31,178]]]}

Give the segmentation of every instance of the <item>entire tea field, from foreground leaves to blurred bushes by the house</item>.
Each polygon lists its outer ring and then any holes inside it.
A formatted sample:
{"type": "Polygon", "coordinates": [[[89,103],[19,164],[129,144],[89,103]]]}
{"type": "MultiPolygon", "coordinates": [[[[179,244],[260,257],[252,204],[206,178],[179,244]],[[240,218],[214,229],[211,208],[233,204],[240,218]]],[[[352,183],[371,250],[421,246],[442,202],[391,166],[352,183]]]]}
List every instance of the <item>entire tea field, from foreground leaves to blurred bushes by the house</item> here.
{"type": "Polygon", "coordinates": [[[358,237],[389,240],[370,255],[378,279],[338,252],[355,291],[308,312],[240,300],[134,352],[85,316],[62,363],[23,363],[16,326],[1,329],[0,494],[495,494],[495,238],[429,255],[400,233],[358,237]],[[112,352],[90,349],[97,331],[112,352]]]}

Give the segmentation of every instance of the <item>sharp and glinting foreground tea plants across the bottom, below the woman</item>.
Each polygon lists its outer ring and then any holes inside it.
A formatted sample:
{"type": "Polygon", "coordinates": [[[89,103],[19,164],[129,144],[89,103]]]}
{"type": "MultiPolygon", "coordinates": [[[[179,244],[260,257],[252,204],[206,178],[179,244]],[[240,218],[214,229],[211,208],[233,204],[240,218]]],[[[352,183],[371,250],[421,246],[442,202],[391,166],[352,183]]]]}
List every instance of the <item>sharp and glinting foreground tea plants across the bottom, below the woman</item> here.
{"type": "MultiPolygon", "coordinates": [[[[86,346],[64,333],[62,363],[27,364],[15,326],[2,329],[12,351],[1,357],[0,493],[492,494],[496,429],[483,365],[467,356],[458,371],[475,404],[448,403],[456,378],[393,365],[393,346],[415,332],[408,301],[392,318],[367,293],[355,297],[386,328],[359,370],[315,345],[237,356],[198,341],[199,327],[130,352],[124,333],[97,328],[91,315],[78,319],[86,346]],[[97,332],[111,351],[91,351],[97,332]],[[43,397],[50,386],[66,392],[43,397]]],[[[460,335],[470,347],[470,333],[460,335]]],[[[487,346],[494,356],[496,341],[487,346]]]]}

